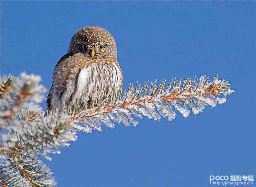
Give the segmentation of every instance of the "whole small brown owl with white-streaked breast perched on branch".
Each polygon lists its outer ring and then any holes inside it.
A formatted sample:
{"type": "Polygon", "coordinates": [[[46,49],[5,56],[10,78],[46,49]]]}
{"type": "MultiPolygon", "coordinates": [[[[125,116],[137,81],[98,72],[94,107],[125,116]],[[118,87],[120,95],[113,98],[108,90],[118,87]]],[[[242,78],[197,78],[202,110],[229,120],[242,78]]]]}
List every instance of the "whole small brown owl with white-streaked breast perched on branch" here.
{"type": "Polygon", "coordinates": [[[72,37],[68,53],[57,62],[46,108],[55,111],[64,104],[83,104],[84,98],[100,98],[104,92],[117,92],[123,73],[117,58],[116,42],[103,28],[87,26],[72,37]]]}

